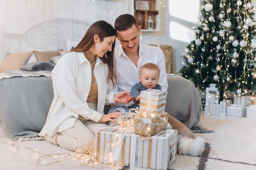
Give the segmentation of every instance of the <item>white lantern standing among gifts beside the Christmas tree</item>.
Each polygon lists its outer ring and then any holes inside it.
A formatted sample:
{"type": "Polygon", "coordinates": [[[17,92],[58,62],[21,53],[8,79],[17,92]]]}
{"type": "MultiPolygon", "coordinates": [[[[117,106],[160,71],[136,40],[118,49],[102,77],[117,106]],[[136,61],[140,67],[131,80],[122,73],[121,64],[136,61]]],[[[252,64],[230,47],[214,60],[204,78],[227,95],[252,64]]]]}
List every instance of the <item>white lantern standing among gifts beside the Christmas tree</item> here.
{"type": "Polygon", "coordinates": [[[205,113],[209,113],[210,104],[219,104],[219,99],[220,94],[216,84],[210,84],[210,86],[206,88],[205,113]]]}

